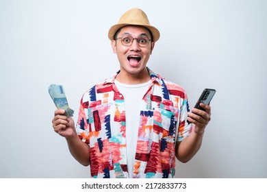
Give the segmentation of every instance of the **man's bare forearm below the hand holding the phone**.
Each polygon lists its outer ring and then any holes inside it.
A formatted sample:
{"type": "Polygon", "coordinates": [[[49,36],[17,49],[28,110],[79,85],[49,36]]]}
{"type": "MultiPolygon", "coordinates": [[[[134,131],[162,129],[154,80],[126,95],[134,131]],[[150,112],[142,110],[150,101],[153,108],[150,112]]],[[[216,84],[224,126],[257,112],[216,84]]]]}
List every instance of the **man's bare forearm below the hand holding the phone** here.
{"type": "Polygon", "coordinates": [[[194,130],[190,136],[186,137],[177,143],[176,157],[182,163],[188,162],[199,151],[203,140],[204,131],[202,133],[196,133],[194,130]]]}

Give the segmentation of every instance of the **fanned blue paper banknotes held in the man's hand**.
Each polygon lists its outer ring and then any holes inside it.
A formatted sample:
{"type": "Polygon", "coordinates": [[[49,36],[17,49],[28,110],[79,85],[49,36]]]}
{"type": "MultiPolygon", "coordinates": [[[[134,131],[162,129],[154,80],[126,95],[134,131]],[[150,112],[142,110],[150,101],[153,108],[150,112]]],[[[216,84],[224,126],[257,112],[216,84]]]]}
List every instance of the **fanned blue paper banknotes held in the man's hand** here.
{"type": "Polygon", "coordinates": [[[68,106],[68,101],[62,85],[51,84],[48,88],[50,97],[58,109],[64,109],[67,117],[73,117],[74,110],[68,106]]]}

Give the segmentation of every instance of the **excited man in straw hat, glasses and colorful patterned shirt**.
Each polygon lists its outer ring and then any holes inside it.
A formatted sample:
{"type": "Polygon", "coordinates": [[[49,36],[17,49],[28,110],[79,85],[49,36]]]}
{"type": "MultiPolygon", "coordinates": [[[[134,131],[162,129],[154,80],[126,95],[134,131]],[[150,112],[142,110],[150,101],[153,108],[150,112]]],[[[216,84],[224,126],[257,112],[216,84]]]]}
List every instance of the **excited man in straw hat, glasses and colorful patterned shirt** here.
{"type": "Polygon", "coordinates": [[[84,93],[76,130],[64,110],[53,128],[93,178],[173,178],[175,156],[186,163],[201,147],[211,109],[189,112],[183,88],[147,67],[160,32],[142,10],[125,12],[108,37],[120,71],[84,93]]]}

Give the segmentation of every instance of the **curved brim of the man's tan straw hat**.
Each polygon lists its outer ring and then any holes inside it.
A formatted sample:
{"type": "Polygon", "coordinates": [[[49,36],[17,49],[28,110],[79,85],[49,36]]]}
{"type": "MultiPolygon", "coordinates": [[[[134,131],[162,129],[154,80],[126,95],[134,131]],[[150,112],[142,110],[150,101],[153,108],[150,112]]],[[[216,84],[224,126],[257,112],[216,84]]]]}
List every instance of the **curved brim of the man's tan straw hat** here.
{"type": "Polygon", "coordinates": [[[121,27],[128,26],[128,25],[142,26],[142,27],[146,27],[147,29],[149,29],[153,36],[153,42],[156,42],[160,38],[160,32],[159,30],[157,30],[156,27],[153,27],[151,25],[140,25],[140,24],[133,24],[133,23],[120,23],[120,24],[113,25],[112,27],[110,27],[110,30],[108,32],[108,38],[110,38],[110,40],[114,40],[114,36],[116,32],[118,32],[118,29],[120,29],[121,27]]]}

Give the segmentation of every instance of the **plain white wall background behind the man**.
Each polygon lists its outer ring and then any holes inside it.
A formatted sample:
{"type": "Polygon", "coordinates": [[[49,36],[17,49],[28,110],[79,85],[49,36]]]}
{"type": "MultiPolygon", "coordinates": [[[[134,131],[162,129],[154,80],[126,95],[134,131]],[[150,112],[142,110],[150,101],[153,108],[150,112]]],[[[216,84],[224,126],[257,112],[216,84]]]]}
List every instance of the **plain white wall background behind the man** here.
{"type": "Polygon", "coordinates": [[[177,178],[267,178],[267,1],[0,1],[0,178],[88,178],[53,132],[50,84],[75,121],[81,95],[118,70],[108,29],[141,8],[161,32],[148,66],[190,106],[216,88],[203,145],[177,178]]]}

